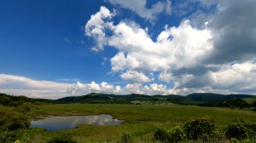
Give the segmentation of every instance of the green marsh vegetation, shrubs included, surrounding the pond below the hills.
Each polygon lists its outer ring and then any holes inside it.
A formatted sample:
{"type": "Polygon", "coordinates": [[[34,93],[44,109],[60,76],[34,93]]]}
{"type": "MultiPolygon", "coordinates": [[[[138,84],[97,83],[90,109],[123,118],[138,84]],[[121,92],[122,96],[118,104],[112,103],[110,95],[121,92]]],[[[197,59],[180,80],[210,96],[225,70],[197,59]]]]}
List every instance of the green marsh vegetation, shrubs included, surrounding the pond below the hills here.
{"type": "Polygon", "coordinates": [[[255,142],[256,113],[228,107],[175,104],[40,104],[0,106],[0,142],[255,142]],[[111,115],[119,125],[79,125],[47,131],[32,118],[111,115]],[[14,122],[18,121],[18,122],[14,122]]]}

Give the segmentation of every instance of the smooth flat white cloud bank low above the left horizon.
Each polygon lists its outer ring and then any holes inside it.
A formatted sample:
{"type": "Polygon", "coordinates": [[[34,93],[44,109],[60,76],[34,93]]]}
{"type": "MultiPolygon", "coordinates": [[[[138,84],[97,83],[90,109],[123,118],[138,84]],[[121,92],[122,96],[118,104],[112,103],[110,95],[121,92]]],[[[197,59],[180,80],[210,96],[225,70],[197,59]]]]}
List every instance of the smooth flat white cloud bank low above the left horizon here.
{"type": "Polygon", "coordinates": [[[0,74],[0,93],[57,99],[69,95],[68,83],[33,80],[27,77],[0,74]]]}

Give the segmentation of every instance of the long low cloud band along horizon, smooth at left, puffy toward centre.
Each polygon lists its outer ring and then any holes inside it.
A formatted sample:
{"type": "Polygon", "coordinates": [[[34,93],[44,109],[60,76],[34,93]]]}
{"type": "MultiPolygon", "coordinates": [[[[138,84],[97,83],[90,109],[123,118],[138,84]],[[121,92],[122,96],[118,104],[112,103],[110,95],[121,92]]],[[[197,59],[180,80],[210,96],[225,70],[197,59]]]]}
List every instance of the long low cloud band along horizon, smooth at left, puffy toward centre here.
{"type": "Polygon", "coordinates": [[[34,80],[32,78],[0,74],[0,93],[26,95],[32,98],[59,99],[70,95],[90,93],[105,94],[172,94],[172,89],[153,83],[143,86],[140,83],[110,85],[102,83],[57,83],[52,81],[34,80]]]}

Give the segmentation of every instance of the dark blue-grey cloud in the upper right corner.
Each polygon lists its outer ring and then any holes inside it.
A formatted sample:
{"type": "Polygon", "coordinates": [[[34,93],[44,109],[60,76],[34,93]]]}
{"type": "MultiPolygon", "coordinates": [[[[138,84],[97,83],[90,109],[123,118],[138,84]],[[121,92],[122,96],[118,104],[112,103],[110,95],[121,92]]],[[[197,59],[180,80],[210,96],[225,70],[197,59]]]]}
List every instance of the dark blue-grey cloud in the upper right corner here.
{"type": "Polygon", "coordinates": [[[253,0],[219,1],[209,28],[213,31],[215,64],[253,60],[256,54],[256,3],[253,0]]]}

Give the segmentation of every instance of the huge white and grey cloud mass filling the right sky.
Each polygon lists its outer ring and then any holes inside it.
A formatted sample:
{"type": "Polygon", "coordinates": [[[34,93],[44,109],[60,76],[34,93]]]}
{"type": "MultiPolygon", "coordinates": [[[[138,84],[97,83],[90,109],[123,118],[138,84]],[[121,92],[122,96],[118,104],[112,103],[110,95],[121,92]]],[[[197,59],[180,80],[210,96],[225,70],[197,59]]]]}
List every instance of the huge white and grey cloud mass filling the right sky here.
{"type": "MultiPolygon", "coordinates": [[[[110,2],[125,9],[136,8],[123,1],[110,2]]],[[[184,17],[179,26],[166,25],[156,40],[148,34],[148,28],[143,29],[135,21],[120,20],[113,24],[113,17],[107,21],[103,16],[98,17],[104,22],[95,23],[93,27],[104,27],[102,33],[106,39],[99,50],[109,46],[118,50],[110,59],[111,72],[134,83],[128,87],[134,87],[137,93],[151,87],[142,88],[142,83],[165,82],[172,83],[172,93],[179,94],[214,91],[255,94],[252,78],[255,77],[256,24],[253,15],[256,3],[253,0],[224,0],[188,1],[186,4],[195,2],[201,3],[202,8],[214,10],[196,11],[188,16],[190,20],[184,17]]],[[[145,8],[145,3],[138,6],[145,8]]],[[[102,9],[107,8],[102,7],[97,14],[102,15],[102,9]]],[[[140,14],[138,10],[131,11],[140,14]]],[[[94,15],[90,20],[93,19],[94,15]]],[[[91,31],[85,34],[90,35],[91,31]]]]}

